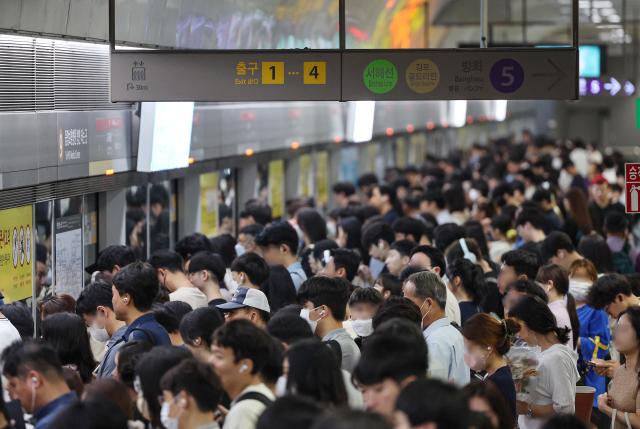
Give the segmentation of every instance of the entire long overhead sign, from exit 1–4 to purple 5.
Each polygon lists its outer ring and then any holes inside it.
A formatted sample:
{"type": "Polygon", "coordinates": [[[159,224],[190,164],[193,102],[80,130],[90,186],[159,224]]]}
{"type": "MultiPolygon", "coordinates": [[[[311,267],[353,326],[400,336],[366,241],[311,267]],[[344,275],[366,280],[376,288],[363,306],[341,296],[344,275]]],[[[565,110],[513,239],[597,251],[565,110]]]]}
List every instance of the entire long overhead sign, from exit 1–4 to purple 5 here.
{"type": "Polygon", "coordinates": [[[578,50],[114,51],[111,98],[572,100],[578,50]]]}

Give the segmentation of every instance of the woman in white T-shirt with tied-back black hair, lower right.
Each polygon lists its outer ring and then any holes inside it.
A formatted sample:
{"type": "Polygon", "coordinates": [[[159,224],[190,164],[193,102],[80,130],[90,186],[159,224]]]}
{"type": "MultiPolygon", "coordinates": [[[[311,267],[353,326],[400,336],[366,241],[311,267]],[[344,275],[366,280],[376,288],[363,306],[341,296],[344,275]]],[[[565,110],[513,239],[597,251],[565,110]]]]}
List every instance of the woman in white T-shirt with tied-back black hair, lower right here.
{"type": "Polygon", "coordinates": [[[540,298],[522,297],[509,311],[520,324],[518,336],[542,350],[534,388],[525,401],[516,401],[521,429],[538,429],[555,414],[575,412],[578,355],[567,346],[569,328],[558,328],[556,318],[540,298]]]}

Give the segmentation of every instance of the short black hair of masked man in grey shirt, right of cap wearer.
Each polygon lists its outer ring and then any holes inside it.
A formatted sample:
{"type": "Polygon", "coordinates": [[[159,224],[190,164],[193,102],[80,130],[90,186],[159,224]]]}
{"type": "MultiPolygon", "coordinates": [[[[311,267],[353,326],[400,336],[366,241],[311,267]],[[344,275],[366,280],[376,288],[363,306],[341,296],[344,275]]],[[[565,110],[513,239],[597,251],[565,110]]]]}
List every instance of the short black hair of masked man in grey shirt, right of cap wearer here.
{"type": "Polygon", "coordinates": [[[298,301],[302,304],[309,301],[316,307],[326,305],[331,310],[334,319],[343,321],[350,292],[346,280],[322,276],[311,277],[300,286],[298,301]]]}

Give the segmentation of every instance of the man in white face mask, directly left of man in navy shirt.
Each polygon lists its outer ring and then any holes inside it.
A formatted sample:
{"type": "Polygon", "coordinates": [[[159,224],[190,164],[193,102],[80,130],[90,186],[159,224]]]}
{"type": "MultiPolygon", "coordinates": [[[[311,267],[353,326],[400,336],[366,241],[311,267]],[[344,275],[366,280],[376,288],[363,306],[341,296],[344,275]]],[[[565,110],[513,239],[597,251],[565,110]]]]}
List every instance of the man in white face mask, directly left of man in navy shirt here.
{"type": "Polygon", "coordinates": [[[116,369],[116,354],[124,344],[122,336],[127,330],[126,323],[116,319],[112,299],[111,286],[97,281],[85,287],[76,302],[76,312],[84,319],[91,337],[107,343],[104,357],[95,371],[97,378],[112,376],[116,369]]]}

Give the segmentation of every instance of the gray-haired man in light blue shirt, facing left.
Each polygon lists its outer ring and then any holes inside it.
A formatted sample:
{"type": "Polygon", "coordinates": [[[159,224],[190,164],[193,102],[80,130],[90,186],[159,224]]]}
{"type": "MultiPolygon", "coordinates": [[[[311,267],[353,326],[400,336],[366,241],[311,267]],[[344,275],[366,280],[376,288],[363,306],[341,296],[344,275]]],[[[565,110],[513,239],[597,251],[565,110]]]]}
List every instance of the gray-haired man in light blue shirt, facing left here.
{"type": "Polygon", "coordinates": [[[424,271],[412,274],[402,292],[420,307],[422,329],[429,350],[429,375],[458,387],[469,383],[470,371],[464,362],[464,340],[445,315],[446,286],[437,274],[424,271]]]}

